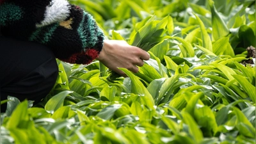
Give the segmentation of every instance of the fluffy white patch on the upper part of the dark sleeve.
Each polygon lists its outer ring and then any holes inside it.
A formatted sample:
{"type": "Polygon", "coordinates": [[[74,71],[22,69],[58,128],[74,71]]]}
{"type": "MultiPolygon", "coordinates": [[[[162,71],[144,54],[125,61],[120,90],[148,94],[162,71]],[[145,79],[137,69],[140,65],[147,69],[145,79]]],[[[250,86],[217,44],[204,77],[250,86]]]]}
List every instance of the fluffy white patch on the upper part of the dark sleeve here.
{"type": "Polygon", "coordinates": [[[70,4],[67,0],[52,0],[49,6],[46,7],[44,13],[45,19],[39,24],[36,24],[36,28],[67,19],[70,13],[69,8],[70,4]]]}

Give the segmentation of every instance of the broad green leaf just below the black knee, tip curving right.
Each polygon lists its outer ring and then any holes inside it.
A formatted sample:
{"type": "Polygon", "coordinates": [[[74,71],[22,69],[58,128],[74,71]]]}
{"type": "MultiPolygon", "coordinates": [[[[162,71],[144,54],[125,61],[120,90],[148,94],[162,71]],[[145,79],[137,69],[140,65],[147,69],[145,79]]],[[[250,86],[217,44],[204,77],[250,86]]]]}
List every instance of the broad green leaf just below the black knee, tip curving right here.
{"type": "Polygon", "coordinates": [[[63,106],[63,102],[65,97],[69,93],[72,93],[71,91],[63,91],[58,93],[57,95],[54,95],[46,104],[45,104],[45,110],[49,113],[54,113],[58,108],[61,108],[63,106]]]}

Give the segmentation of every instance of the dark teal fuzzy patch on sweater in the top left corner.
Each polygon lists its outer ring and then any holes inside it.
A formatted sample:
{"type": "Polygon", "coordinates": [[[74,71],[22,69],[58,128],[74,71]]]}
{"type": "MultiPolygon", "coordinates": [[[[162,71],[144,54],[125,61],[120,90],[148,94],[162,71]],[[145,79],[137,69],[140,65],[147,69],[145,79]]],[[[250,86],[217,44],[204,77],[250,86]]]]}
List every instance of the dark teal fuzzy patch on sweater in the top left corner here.
{"type": "Polygon", "coordinates": [[[0,5],[0,26],[22,19],[24,12],[19,6],[12,3],[3,3],[0,5]],[[8,23],[7,23],[8,22],[8,23]]]}

